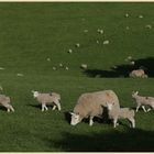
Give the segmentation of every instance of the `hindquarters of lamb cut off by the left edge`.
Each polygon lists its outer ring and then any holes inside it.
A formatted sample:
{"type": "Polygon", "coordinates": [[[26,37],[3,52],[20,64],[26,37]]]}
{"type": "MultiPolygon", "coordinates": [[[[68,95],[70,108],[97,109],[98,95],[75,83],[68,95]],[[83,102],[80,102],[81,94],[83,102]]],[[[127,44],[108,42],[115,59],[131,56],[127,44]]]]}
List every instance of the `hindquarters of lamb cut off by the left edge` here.
{"type": "Polygon", "coordinates": [[[14,112],[14,109],[11,106],[10,97],[7,97],[6,95],[0,95],[0,105],[7,108],[8,112],[10,111],[14,112]]]}

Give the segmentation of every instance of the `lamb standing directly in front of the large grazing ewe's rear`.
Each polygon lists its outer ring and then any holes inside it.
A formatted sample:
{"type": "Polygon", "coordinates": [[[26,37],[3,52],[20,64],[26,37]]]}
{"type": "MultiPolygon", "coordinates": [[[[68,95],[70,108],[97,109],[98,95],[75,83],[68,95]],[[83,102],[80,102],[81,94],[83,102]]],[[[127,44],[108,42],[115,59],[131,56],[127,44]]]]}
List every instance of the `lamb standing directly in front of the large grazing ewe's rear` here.
{"type": "Polygon", "coordinates": [[[118,125],[119,119],[128,119],[131,122],[131,127],[135,128],[135,119],[134,119],[134,110],[131,110],[130,108],[120,108],[120,107],[113,107],[113,103],[107,102],[107,109],[109,119],[113,120],[113,128],[118,125]]]}

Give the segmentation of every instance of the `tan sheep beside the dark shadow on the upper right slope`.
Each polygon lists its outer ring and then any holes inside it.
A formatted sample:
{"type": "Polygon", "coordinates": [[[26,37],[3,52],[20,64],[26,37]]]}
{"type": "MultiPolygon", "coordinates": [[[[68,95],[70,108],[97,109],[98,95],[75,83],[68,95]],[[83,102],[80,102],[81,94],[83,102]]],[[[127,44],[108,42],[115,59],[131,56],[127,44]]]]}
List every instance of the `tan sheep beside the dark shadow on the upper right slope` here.
{"type": "Polygon", "coordinates": [[[132,70],[129,76],[133,78],[135,77],[147,78],[147,75],[145,75],[145,72],[143,69],[132,70]]]}

